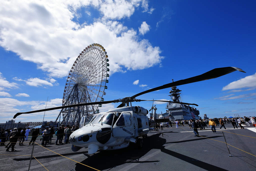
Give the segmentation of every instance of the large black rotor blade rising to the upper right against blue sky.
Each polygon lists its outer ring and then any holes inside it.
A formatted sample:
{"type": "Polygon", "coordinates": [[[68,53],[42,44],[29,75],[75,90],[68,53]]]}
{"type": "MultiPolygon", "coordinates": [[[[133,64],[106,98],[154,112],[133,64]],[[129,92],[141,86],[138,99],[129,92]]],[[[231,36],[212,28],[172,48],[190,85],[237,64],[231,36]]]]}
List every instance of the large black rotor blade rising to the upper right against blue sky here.
{"type": "Polygon", "coordinates": [[[132,96],[131,98],[135,98],[135,97],[140,96],[142,94],[150,93],[150,92],[153,92],[153,91],[156,91],[156,90],[161,90],[161,89],[164,89],[164,88],[169,88],[169,87],[174,87],[174,86],[179,86],[179,85],[195,83],[195,82],[199,82],[199,81],[204,81],[204,80],[208,80],[208,79],[217,78],[217,77],[232,73],[234,71],[244,72],[242,69],[236,68],[236,67],[215,68],[215,69],[212,69],[211,71],[208,71],[204,74],[201,74],[201,75],[198,75],[198,76],[195,76],[195,77],[182,79],[182,80],[179,80],[179,81],[175,81],[175,82],[172,82],[172,83],[169,83],[169,84],[165,84],[165,85],[162,85],[162,86],[159,86],[159,87],[156,87],[156,88],[146,90],[144,92],[141,92],[141,93],[138,93],[138,94],[132,96]]]}

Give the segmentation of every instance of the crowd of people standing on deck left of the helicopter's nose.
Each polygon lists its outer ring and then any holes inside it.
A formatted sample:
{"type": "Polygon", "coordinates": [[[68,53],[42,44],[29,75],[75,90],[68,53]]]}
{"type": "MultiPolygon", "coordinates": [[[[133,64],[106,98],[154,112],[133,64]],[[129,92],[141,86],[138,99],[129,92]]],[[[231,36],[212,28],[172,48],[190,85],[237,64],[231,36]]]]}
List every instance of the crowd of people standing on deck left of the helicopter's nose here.
{"type": "MultiPolygon", "coordinates": [[[[65,138],[64,138],[64,143],[69,143],[69,136],[70,134],[79,129],[78,126],[75,127],[75,125],[73,126],[65,126],[65,125],[62,125],[62,126],[59,126],[58,129],[54,129],[54,127],[45,127],[45,130],[43,130],[41,133],[42,133],[42,138],[40,138],[40,141],[42,141],[41,145],[46,147],[46,145],[48,144],[52,144],[52,137],[53,135],[55,134],[57,136],[57,139],[56,139],[56,142],[55,142],[55,145],[60,145],[60,144],[63,144],[62,143],[62,140],[63,140],[63,137],[65,135],[65,138]],[[59,142],[59,143],[58,143],[59,142]]],[[[28,136],[29,136],[29,132],[30,132],[30,129],[27,128],[14,128],[13,130],[10,128],[10,129],[1,129],[1,132],[0,132],[0,140],[1,140],[1,144],[0,146],[5,146],[7,149],[5,150],[6,152],[9,152],[9,149],[11,148],[11,151],[14,152],[16,151],[14,149],[16,143],[19,141],[19,146],[22,146],[22,145],[25,145],[23,144],[25,139],[26,141],[28,140],[28,136]],[[9,141],[9,143],[7,145],[5,145],[5,143],[9,141]]],[[[32,145],[34,144],[34,142],[36,141],[38,135],[39,135],[39,128],[36,128],[33,132],[32,132],[32,135],[31,135],[31,140],[30,142],[28,143],[28,145],[30,145],[32,143],[32,145]]]]}

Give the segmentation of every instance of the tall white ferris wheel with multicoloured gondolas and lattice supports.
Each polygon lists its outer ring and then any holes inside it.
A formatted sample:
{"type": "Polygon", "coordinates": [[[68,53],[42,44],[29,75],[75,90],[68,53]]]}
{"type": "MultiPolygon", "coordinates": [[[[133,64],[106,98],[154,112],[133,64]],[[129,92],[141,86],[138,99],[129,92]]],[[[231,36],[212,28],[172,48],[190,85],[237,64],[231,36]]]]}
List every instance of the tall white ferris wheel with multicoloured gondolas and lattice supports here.
{"type": "MultiPolygon", "coordinates": [[[[109,77],[107,57],[107,52],[100,44],[93,43],[83,49],[69,72],[62,106],[104,101],[104,90],[108,88],[106,83],[109,77]]],[[[55,122],[59,119],[59,125],[78,125],[83,116],[89,119],[93,114],[99,113],[98,107],[101,106],[102,104],[63,108],[55,122]]]]}

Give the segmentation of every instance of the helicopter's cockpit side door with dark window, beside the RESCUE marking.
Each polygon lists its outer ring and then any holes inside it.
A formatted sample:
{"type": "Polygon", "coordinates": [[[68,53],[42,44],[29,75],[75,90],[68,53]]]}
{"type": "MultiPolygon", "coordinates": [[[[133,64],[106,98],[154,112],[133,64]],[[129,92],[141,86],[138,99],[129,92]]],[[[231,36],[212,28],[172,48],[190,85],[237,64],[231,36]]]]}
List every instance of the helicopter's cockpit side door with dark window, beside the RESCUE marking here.
{"type": "Polygon", "coordinates": [[[123,112],[113,126],[114,137],[134,136],[132,112],[123,112]]]}

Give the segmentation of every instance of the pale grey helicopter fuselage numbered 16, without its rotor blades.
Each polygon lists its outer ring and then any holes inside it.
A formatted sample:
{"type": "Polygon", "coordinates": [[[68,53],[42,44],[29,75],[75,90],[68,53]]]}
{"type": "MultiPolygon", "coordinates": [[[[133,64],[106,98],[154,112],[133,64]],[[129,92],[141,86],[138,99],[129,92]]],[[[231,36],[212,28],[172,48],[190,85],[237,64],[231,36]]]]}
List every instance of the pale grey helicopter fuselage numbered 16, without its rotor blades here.
{"type": "Polygon", "coordinates": [[[69,138],[72,150],[76,152],[85,147],[89,154],[93,154],[98,149],[125,148],[130,142],[140,148],[143,141],[139,137],[146,137],[154,129],[154,119],[149,119],[147,114],[148,110],[143,107],[127,106],[94,114],[87,123],[84,123],[86,119],[82,117],[80,129],[74,131],[69,138]]]}

